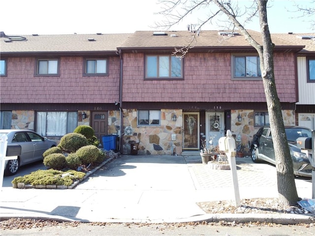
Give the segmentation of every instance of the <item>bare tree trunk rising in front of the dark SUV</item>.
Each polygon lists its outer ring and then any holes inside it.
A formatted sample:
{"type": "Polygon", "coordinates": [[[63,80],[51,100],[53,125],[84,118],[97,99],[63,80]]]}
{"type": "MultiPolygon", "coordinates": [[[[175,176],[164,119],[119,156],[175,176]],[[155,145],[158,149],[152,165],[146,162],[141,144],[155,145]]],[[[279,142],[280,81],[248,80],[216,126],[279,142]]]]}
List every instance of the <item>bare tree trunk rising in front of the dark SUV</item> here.
{"type": "Polygon", "coordinates": [[[276,156],[279,201],[284,205],[295,205],[298,195],[293,174],[293,163],[284,131],[280,100],[275,84],[273,48],[267,24],[267,1],[258,0],[259,22],[263,41],[263,56],[260,57],[263,85],[266,94],[272,140],[276,156]]]}

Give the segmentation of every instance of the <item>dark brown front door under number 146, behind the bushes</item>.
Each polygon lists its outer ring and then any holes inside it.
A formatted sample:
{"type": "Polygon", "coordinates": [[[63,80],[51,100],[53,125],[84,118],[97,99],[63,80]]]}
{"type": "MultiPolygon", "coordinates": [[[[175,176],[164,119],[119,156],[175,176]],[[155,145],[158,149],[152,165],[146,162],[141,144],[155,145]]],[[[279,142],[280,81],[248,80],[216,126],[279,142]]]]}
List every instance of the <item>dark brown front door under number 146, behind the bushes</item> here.
{"type": "Polygon", "coordinates": [[[108,114],[105,111],[92,112],[92,128],[95,136],[102,143],[102,136],[108,134],[108,114]]]}

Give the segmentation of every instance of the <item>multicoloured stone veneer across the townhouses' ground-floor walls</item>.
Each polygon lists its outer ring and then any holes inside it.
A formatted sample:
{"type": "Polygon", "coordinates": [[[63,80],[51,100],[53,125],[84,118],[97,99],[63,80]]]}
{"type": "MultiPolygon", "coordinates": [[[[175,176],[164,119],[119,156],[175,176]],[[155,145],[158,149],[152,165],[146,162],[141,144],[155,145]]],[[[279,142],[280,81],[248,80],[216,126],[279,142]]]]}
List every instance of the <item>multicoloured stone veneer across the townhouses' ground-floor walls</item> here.
{"type": "MultiPolygon", "coordinates": [[[[87,119],[82,119],[83,111],[78,111],[78,125],[90,125],[90,112],[87,113],[87,119]]],[[[122,154],[130,154],[131,144],[138,143],[138,154],[140,155],[161,155],[178,154],[183,151],[183,119],[182,110],[175,110],[177,120],[172,121],[174,110],[161,109],[160,126],[138,126],[137,110],[123,110],[123,127],[131,126],[132,135],[123,135],[122,154]],[[172,134],[175,134],[176,140],[172,140],[172,134]]],[[[284,125],[295,125],[295,111],[283,110],[284,125]]],[[[12,129],[34,130],[34,111],[12,111],[12,129]]],[[[110,134],[120,134],[120,112],[108,112],[108,125],[110,134]]],[[[252,141],[253,135],[258,127],[254,127],[253,110],[231,110],[231,132],[236,137],[240,137],[240,142],[248,145],[252,141]],[[238,114],[242,121],[238,121],[238,114]]],[[[60,138],[56,141],[59,142],[60,138]]]]}

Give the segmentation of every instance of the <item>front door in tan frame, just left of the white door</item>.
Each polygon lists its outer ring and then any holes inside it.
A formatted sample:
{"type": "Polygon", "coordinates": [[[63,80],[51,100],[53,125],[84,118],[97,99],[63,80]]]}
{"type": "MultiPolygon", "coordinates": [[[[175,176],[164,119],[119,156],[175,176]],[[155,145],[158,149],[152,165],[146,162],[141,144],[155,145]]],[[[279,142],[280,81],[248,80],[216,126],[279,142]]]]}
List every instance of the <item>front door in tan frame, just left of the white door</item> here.
{"type": "Polygon", "coordinates": [[[183,113],[183,149],[199,149],[199,113],[183,113]]]}

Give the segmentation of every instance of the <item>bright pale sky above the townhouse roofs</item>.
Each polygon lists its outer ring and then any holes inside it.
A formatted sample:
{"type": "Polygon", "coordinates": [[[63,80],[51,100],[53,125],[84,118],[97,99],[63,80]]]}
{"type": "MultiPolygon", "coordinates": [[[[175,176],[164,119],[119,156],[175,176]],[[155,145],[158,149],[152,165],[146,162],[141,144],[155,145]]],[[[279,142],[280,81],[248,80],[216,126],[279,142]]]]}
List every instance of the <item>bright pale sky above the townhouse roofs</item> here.
{"type": "MultiPolygon", "coordinates": [[[[239,3],[247,0],[239,0],[239,3]]],[[[296,18],[292,0],[269,0],[268,24],[272,33],[306,33],[311,29],[310,19],[296,18]]],[[[311,0],[295,0],[310,6],[311,0]]],[[[245,4],[245,3],[244,3],[245,4]]],[[[314,3],[313,3],[314,4],[314,3]]],[[[3,0],[0,3],[0,31],[7,35],[72,34],[72,33],[132,33],[154,29],[161,22],[161,5],[157,0],[3,0]]],[[[313,6],[314,7],[314,6],[313,6]]],[[[171,30],[186,30],[206,16],[205,10],[189,14],[171,30]]],[[[313,18],[315,18],[313,16],[313,18]]],[[[246,29],[259,31],[258,19],[246,29]]],[[[202,30],[219,29],[215,24],[202,30]]]]}

